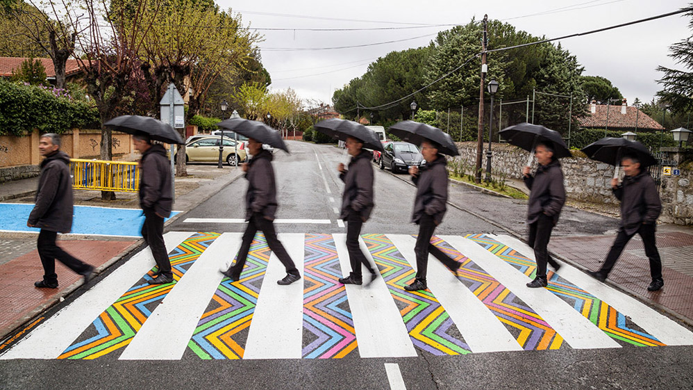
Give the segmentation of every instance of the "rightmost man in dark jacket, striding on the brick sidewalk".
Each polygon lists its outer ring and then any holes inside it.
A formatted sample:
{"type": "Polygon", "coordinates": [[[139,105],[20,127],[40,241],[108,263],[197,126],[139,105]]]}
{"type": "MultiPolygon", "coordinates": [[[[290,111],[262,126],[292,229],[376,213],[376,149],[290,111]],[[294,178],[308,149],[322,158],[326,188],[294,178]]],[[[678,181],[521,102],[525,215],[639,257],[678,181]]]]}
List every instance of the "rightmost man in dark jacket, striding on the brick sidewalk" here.
{"type": "Polygon", "coordinates": [[[662,201],[657,193],[654,179],[640,169],[640,161],[635,156],[626,156],[621,160],[624,177],[623,184],[618,185],[618,179],[611,180],[611,188],[615,197],[621,201],[621,225],[614,244],[606,256],[599,271],[587,271],[596,279],[605,281],[616,260],[621,256],[624,247],[635,234],[640,234],[645,254],[650,260],[650,275],[652,282],[647,289],[658,291],[664,286],[662,279],[662,260],[657,250],[655,230],[657,218],[662,212],[662,201]]]}

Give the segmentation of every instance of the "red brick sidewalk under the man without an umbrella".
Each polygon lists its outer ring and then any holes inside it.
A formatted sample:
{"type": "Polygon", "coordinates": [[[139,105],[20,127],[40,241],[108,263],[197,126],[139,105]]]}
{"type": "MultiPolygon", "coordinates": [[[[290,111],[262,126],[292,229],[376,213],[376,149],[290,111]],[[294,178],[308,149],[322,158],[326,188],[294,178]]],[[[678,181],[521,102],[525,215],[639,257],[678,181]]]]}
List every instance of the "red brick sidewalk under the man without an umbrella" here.
{"type": "MultiPolygon", "coordinates": [[[[133,246],[137,240],[93,241],[58,240],[58,245],[74,257],[90,263],[97,272],[110,266],[119,254],[133,246]]],[[[35,239],[34,245],[35,248],[35,239]]],[[[134,249],[134,248],[131,248],[134,249]]],[[[37,250],[19,255],[0,264],[0,339],[33,316],[51,307],[60,298],[81,286],[82,277],[56,261],[58,289],[37,289],[34,282],[43,278],[43,267],[37,250]]]]}

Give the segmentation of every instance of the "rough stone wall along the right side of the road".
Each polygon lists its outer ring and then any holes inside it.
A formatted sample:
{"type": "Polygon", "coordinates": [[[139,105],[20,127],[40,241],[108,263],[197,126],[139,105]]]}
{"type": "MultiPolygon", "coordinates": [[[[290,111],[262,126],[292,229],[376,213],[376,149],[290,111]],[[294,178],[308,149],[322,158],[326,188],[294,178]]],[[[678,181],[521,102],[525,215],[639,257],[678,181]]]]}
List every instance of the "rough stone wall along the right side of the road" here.
{"type": "MultiPolygon", "coordinates": [[[[484,145],[485,149],[487,144],[484,145]]],[[[456,161],[473,172],[476,166],[476,143],[458,143],[460,156],[456,161]]],[[[521,179],[521,170],[527,164],[528,152],[508,144],[492,145],[493,157],[491,172],[496,179],[521,179]]],[[[671,159],[681,161],[683,156],[671,156],[671,159]]],[[[612,195],[610,181],[614,167],[605,163],[572,157],[561,159],[565,175],[565,190],[568,198],[582,202],[618,203],[612,195]]],[[[536,168],[536,161],[533,162],[536,168]]],[[[679,225],[693,225],[693,170],[688,165],[680,165],[680,176],[662,176],[660,197],[662,198],[662,215],[660,221],[673,222],[679,225]]],[[[483,172],[486,170],[486,154],[482,159],[483,172]]],[[[623,177],[623,172],[619,172],[623,177]]]]}

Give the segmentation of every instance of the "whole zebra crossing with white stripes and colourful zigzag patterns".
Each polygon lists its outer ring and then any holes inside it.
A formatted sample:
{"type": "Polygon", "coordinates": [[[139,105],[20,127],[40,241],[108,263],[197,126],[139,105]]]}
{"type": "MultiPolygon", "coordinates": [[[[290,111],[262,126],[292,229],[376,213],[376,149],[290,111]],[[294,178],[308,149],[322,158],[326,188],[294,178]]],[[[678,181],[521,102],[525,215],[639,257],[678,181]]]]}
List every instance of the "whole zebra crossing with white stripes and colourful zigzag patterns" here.
{"type": "Polygon", "coordinates": [[[369,286],[344,286],[344,234],[281,234],[303,279],[278,286],[283,267],[262,234],[242,279],[228,266],[241,234],[165,235],[176,283],[149,285],[143,250],[35,327],[0,359],[339,359],[465,355],[511,350],[693,345],[693,333],[565,265],[546,289],[526,289],[533,253],[508,236],[437,236],[460,262],[453,275],[429,261],[415,275],[415,238],[364,234],[380,270],[369,286]]]}

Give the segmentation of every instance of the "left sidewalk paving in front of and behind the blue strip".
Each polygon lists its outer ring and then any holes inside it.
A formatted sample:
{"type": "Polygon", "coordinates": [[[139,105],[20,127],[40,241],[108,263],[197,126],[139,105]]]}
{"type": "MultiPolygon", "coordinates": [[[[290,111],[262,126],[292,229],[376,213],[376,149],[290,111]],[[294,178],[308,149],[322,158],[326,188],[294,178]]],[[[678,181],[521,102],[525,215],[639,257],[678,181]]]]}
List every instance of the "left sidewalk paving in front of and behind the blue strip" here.
{"type": "MultiPolygon", "coordinates": [[[[176,177],[176,200],[174,210],[181,211],[167,221],[167,225],[195,206],[207,200],[221,188],[242,176],[240,168],[224,165],[187,165],[187,177],[176,177]]],[[[0,202],[33,203],[38,179],[23,179],[3,183],[0,186],[0,202]]],[[[101,200],[100,191],[75,190],[76,205],[108,206],[138,209],[137,193],[117,193],[117,200],[101,200]]],[[[230,200],[233,202],[233,200],[230,200]]],[[[243,202],[238,198],[237,202],[243,202]]],[[[60,302],[65,295],[83,284],[82,278],[58,261],[58,289],[35,289],[33,283],[43,277],[43,268],[36,250],[36,234],[0,232],[0,340],[28,320],[42,313],[53,304],[60,302]]],[[[60,235],[58,244],[78,259],[90,263],[102,273],[113,263],[119,261],[140,247],[140,238],[110,238],[103,236],[60,235]]],[[[93,283],[93,282],[92,282],[93,283]]],[[[33,325],[34,326],[36,321],[33,325]]],[[[0,350],[2,346],[0,346],[0,350]]]]}

